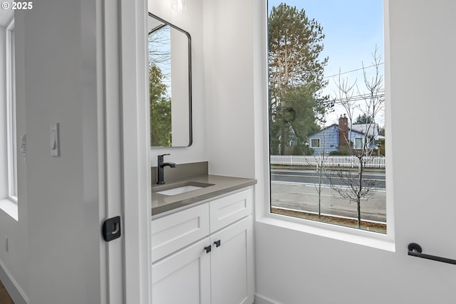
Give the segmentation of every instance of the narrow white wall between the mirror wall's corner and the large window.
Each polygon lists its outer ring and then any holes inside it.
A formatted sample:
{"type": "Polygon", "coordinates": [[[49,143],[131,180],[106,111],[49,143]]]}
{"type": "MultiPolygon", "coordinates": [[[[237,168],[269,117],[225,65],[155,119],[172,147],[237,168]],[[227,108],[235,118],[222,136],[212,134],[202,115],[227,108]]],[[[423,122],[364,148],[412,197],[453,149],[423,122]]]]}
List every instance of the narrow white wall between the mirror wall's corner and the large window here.
{"type": "Polygon", "coordinates": [[[204,1],[204,85],[211,174],[254,177],[254,1],[204,1]]]}

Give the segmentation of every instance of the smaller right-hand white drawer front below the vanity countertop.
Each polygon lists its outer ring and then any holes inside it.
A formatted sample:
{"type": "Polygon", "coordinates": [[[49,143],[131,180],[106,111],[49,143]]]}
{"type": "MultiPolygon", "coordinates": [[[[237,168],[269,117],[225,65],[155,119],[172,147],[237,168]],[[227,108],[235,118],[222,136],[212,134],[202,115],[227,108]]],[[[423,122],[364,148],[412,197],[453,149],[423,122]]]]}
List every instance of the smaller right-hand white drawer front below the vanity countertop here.
{"type": "Polygon", "coordinates": [[[209,202],[211,233],[252,214],[252,189],[209,202]]]}

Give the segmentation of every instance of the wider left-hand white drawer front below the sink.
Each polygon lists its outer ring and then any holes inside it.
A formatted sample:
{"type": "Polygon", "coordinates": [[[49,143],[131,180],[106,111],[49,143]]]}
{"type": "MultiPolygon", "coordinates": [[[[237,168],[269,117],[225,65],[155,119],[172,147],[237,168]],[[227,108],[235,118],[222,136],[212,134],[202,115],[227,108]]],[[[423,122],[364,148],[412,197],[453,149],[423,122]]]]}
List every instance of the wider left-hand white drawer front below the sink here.
{"type": "Polygon", "coordinates": [[[153,263],[209,234],[209,204],[154,219],[151,231],[153,263]]]}

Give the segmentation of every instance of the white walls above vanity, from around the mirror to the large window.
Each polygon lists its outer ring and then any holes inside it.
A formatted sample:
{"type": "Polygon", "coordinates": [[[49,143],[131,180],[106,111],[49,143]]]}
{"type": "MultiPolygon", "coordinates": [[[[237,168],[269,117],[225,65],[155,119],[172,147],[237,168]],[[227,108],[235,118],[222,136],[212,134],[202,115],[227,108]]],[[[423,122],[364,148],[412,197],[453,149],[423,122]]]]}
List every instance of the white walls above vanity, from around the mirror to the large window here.
{"type": "Polygon", "coordinates": [[[151,165],[170,153],[166,159],[178,164],[209,161],[210,174],[254,177],[254,1],[189,1],[184,13],[170,1],[148,4],[192,36],[193,144],[151,148],[151,165]]]}

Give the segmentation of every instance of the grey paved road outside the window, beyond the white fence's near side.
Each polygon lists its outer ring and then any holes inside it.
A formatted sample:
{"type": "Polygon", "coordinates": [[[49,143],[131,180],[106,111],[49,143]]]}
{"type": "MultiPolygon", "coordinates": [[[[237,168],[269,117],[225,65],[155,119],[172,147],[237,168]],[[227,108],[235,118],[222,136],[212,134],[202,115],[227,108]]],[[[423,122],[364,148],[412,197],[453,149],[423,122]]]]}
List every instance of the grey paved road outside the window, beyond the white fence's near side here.
{"type": "MultiPolygon", "coordinates": [[[[272,170],[271,206],[318,212],[317,172],[309,170],[272,170]]],[[[378,189],[368,201],[361,202],[361,219],[386,221],[385,174],[369,173],[366,178],[375,179],[378,189]],[[383,186],[383,187],[380,187],[383,186]]],[[[324,180],[321,192],[321,213],[356,218],[356,203],[341,199],[324,180]]]]}

